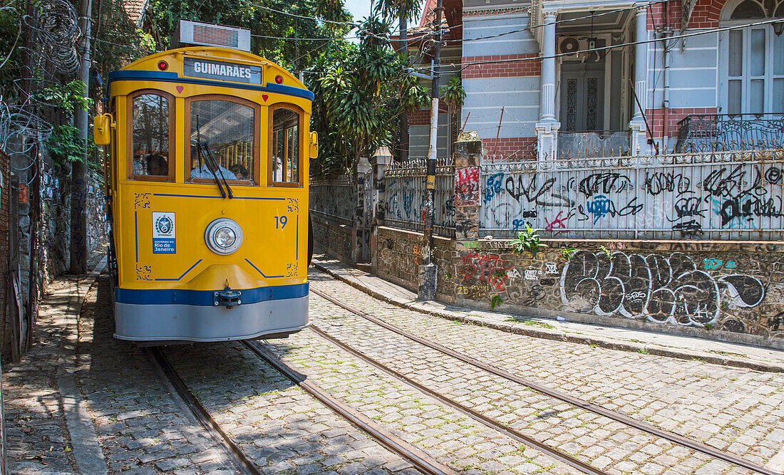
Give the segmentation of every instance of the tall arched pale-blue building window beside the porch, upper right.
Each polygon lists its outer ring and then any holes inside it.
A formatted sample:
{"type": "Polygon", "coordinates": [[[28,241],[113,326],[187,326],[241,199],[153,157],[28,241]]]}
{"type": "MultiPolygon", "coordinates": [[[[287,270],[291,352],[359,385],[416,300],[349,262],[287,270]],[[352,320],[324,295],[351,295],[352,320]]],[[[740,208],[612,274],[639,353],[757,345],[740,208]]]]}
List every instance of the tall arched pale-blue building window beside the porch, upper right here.
{"type": "MultiPolygon", "coordinates": [[[[750,21],[784,16],[784,2],[774,12],[754,0],[735,6],[730,20],[750,21]]],[[[771,24],[725,33],[727,41],[728,114],[784,112],[784,36],[771,24]]]]}

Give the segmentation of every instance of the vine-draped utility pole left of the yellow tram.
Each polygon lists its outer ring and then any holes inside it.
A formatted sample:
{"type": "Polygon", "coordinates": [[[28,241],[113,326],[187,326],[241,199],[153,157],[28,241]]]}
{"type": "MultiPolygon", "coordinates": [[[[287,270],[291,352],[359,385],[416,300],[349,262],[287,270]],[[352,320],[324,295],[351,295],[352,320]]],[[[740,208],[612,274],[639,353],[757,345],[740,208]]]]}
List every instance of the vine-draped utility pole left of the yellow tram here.
{"type": "MultiPolygon", "coordinates": [[[[79,80],[85,84],[84,96],[89,97],[90,85],[90,26],[93,0],[82,0],[79,5],[79,29],[82,30],[82,64],[79,67],[79,80]]],[[[79,140],[87,143],[89,111],[76,108],[74,125],[79,129],[79,140]]],[[[81,161],[71,165],[71,274],[87,272],[87,160],[85,150],[81,161]]]]}

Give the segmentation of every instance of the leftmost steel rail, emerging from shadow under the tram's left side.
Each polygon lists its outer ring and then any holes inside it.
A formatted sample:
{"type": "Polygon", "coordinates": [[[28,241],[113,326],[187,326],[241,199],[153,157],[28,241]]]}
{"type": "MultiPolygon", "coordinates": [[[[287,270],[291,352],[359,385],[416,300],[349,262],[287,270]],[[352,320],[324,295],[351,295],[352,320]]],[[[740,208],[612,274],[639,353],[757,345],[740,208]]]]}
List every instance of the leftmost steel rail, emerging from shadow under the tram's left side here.
{"type": "Polygon", "coordinates": [[[163,355],[161,349],[158,346],[151,346],[147,348],[147,351],[150,352],[155,363],[161,368],[165,377],[172,383],[177,395],[180,396],[188,408],[191,409],[191,412],[193,412],[193,415],[198,420],[199,424],[201,424],[209,435],[212,436],[212,439],[223,445],[223,448],[227,451],[234,464],[241,470],[245,470],[245,473],[260,475],[261,472],[256,468],[256,464],[248,458],[248,455],[245,455],[245,452],[231,440],[231,437],[229,437],[227,433],[223,432],[223,429],[220,428],[218,422],[216,422],[215,419],[212,419],[212,415],[209,415],[209,412],[207,412],[204,406],[202,406],[193,394],[191,394],[191,391],[188,390],[188,387],[183,379],[180,378],[180,375],[174,371],[174,368],[172,368],[172,365],[163,355]]]}

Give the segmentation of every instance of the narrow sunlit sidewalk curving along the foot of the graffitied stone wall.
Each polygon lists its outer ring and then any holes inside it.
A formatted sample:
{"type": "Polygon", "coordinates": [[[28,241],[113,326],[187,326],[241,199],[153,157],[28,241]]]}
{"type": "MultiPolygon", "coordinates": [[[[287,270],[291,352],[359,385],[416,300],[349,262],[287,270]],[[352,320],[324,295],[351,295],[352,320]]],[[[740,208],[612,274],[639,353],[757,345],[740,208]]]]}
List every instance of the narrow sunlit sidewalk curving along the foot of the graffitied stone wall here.
{"type": "Polygon", "coordinates": [[[345,263],[328,259],[323,255],[314,256],[313,263],[316,269],[345,281],[377,299],[437,317],[484,325],[504,332],[536,338],[597,345],[613,350],[655,354],[685,360],[699,359],[708,363],[750,368],[757,371],[784,372],[784,351],[738,343],[724,343],[713,339],[670,335],[664,332],[586,325],[541,317],[528,318],[521,315],[450,306],[436,301],[423,302],[417,299],[414,292],[362,270],[348,267],[345,263]]]}

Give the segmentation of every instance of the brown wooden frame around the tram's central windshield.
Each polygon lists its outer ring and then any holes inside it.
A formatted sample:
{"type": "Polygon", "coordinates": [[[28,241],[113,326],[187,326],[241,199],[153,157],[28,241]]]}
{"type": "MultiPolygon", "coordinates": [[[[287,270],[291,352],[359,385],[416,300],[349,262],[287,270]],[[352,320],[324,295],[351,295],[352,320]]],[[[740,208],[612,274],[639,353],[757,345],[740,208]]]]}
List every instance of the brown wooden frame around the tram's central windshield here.
{"type": "MultiPolygon", "coordinates": [[[[227,179],[226,183],[230,185],[238,185],[241,187],[259,187],[261,185],[261,105],[251,100],[243,99],[236,96],[227,96],[225,94],[201,94],[199,96],[190,96],[185,98],[184,107],[184,135],[185,143],[183,144],[183,179],[184,183],[195,184],[215,184],[212,178],[191,178],[191,104],[200,102],[202,100],[223,100],[226,102],[238,103],[243,106],[251,107],[253,110],[253,176],[251,179],[227,179]],[[250,183],[249,183],[250,182],[250,183]]],[[[220,161],[220,156],[216,154],[216,158],[220,161]]],[[[220,176],[219,176],[220,178],[220,176]]],[[[223,182],[223,180],[221,180],[223,182]]]]}

